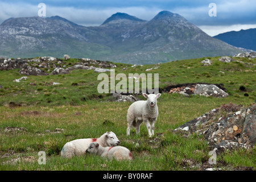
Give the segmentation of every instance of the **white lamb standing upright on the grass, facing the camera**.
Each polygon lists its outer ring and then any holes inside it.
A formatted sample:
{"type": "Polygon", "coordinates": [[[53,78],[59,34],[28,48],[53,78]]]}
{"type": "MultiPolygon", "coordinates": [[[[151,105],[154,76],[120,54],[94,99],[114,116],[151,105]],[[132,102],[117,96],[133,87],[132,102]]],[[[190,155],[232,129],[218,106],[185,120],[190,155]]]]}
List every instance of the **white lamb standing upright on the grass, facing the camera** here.
{"type": "Polygon", "coordinates": [[[130,130],[132,126],[136,129],[136,133],[139,134],[139,127],[141,126],[143,121],[147,126],[149,137],[152,137],[152,135],[154,135],[155,121],[158,118],[157,99],[161,96],[161,94],[158,93],[156,95],[147,95],[146,93],[143,93],[143,96],[147,98],[147,101],[133,102],[133,104],[130,105],[127,111],[127,135],[130,135],[130,130]],[[135,120],[136,118],[137,122],[135,120]]]}

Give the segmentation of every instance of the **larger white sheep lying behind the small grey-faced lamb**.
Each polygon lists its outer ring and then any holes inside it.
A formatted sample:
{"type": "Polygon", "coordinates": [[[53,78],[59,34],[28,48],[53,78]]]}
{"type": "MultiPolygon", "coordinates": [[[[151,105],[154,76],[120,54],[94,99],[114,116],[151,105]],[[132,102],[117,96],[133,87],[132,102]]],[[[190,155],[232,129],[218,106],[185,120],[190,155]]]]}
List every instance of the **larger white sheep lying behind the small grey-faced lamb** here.
{"type": "Polygon", "coordinates": [[[105,134],[101,135],[100,138],[76,139],[67,142],[62,148],[60,155],[65,158],[72,158],[72,156],[75,155],[84,155],[89,144],[92,142],[98,142],[104,147],[118,146],[120,143],[117,136],[112,131],[107,131],[105,134]]]}

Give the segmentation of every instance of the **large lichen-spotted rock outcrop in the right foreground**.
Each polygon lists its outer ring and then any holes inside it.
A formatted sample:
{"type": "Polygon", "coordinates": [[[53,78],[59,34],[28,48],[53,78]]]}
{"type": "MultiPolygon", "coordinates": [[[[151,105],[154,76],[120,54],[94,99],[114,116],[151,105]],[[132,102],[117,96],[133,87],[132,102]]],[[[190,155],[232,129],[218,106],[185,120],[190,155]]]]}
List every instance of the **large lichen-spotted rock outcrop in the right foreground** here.
{"type": "Polygon", "coordinates": [[[249,107],[222,105],[177,127],[174,132],[204,135],[216,152],[236,147],[250,148],[256,143],[256,104],[249,107]],[[226,113],[226,115],[224,114],[226,113]]]}

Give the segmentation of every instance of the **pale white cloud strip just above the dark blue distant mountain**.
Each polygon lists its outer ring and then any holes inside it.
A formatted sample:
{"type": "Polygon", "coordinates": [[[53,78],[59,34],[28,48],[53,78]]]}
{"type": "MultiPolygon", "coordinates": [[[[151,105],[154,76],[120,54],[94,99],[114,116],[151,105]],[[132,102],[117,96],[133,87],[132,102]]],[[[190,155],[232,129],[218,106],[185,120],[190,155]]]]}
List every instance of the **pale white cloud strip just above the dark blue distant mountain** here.
{"type": "Polygon", "coordinates": [[[198,26],[201,30],[210,36],[215,36],[230,31],[247,30],[256,28],[256,24],[233,24],[231,26],[198,26]]]}

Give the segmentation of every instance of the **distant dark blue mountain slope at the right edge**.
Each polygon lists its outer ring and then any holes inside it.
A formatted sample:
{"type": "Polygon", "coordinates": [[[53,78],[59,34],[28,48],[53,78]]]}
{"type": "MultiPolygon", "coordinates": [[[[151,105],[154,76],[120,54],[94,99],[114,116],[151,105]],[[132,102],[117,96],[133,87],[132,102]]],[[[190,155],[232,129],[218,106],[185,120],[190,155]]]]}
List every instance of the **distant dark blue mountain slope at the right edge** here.
{"type": "Polygon", "coordinates": [[[213,38],[222,40],[232,46],[256,51],[256,28],[225,32],[223,34],[218,34],[213,38]]]}

